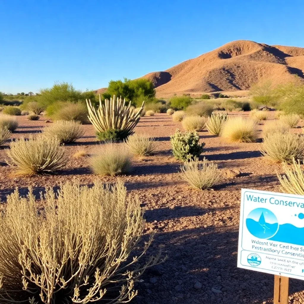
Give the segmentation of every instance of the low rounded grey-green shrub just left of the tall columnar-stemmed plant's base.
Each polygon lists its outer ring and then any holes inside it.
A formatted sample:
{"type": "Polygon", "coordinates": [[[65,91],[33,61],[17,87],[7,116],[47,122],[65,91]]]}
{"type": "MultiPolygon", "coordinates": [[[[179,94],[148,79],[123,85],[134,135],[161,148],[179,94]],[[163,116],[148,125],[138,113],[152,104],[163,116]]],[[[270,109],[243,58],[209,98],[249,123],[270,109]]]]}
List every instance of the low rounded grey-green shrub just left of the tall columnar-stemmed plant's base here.
{"type": "Polygon", "coordinates": [[[60,143],[72,143],[84,135],[81,123],[78,121],[58,120],[49,127],[45,127],[43,135],[57,138],[60,143]]]}

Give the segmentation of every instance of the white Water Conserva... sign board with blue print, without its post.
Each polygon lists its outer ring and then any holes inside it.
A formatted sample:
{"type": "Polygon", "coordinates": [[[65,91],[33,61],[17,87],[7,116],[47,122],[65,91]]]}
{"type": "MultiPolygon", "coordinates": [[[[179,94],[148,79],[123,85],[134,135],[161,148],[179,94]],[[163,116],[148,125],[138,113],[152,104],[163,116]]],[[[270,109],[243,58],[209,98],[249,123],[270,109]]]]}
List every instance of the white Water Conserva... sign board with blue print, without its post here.
{"type": "Polygon", "coordinates": [[[242,189],[237,267],[304,280],[304,196],[242,189]]]}

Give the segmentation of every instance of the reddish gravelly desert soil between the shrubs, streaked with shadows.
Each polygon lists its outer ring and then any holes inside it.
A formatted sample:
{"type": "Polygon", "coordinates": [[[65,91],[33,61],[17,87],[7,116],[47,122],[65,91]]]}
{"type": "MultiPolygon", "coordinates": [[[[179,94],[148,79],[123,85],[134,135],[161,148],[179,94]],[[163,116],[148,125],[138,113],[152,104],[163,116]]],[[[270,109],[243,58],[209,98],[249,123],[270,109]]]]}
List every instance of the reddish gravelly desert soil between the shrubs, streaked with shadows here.
{"type": "MultiPolygon", "coordinates": [[[[269,112],[270,118],[274,112],[269,112]]],[[[237,115],[240,113],[231,113],[237,115]]],[[[248,116],[248,113],[241,115],[248,116]]],[[[19,116],[20,126],[13,138],[35,136],[49,124],[43,116],[39,121],[28,121],[19,116]]],[[[299,124],[302,126],[303,122],[299,124]]],[[[98,177],[89,168],[88,157],[72,155],[97,149],[98,142],[92,125],[84,125],[85,136],[76,143],[66,145],[71,157],[67,167],[57,175],[16,177],[10,166],[0,166],[0,195],[2,201],[14,188],[25,195],[29,186],[38,195],[46,186],[78,178],[82,184],[96,179],[104,182],[116,178],[98,177]]],[[[260,126],[261,130],[263,126],[260,126]]],[[[139,294],[133,303],[272,303],[273,276],[237,268],[237,241],[239,225],[240,189],[251,188],[280,192],[276,172],[280,164],[270,164],[260,154],[261,142],[226,143],[223,138],[200,132],[206,143],[202,156],[215,161],[224,173],[238,169],[241,176],[225,179],[214,191],[190,188],[181,180],[180,163],[171,154],[170,135],[180,123],[171,116],[156,114],[143,117],[135,132],[155,136],[157,153],[151,157],[135,159],[132,174],[119,177],[127,190],[138,195],[146,208],[145,234],[155,232],[150,253],[159,249],[168,254],[163,264],[147,271],[137,283],[139,294]]],[[[300,129],[293,129],[300,133],[300,129]]],[[[5,149],[0,150],[0,161],[5,162],[5,149]]],[[[290,303],[304,303],[304,282],[290,280],[290,303]]]]}

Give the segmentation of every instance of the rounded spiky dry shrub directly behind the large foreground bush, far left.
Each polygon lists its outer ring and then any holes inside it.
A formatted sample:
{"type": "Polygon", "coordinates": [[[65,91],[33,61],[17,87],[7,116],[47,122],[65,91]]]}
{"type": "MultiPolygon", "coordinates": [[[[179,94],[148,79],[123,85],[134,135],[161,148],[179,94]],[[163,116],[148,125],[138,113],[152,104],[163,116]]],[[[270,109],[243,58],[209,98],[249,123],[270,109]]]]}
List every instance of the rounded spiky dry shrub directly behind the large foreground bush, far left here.
{"type": "Polygon", "coordinates": [[[17,139],[6,153],[11,160],[10,165],[23,175],[53,173],[67,162],[59,140],[44,136],[17,139]]]}

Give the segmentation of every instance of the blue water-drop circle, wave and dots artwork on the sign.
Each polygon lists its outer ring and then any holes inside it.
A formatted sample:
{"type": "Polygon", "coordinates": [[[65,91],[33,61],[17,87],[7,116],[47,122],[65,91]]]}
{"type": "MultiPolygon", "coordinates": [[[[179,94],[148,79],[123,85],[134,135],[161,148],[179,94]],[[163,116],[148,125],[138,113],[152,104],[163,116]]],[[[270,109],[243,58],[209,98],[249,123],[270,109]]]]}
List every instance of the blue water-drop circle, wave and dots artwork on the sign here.
{"type": "MultiPolygon", "coordinates": [[[[304,219],[302,213],[299,213],[297,217],[304,219]]],[[[252,210],[247,216],[246,226],[252,235],[260,239],[304,246],[304,227],[299,228],[290,223],[279,225],[274,213],[268,209],[252,210]]]]}

